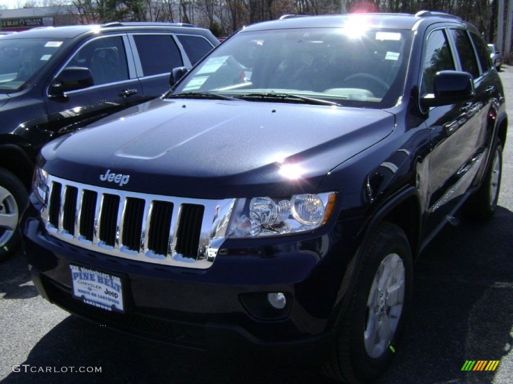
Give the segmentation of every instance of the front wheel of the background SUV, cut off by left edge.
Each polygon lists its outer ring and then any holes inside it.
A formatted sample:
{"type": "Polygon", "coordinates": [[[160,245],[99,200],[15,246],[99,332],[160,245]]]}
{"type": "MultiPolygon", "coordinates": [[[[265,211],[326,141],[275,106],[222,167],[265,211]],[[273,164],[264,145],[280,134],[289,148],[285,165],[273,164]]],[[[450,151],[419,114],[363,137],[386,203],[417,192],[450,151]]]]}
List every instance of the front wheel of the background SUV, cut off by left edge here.
{"type": "Polygon", "coordinates": [[[7,169],[0,168],[0,262],[19,247],[18,220],[27,200],[23,183],[7,169]]]}

